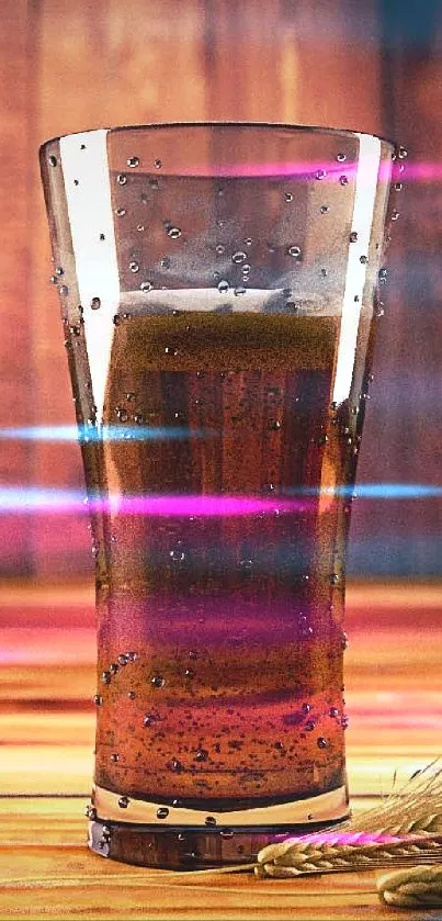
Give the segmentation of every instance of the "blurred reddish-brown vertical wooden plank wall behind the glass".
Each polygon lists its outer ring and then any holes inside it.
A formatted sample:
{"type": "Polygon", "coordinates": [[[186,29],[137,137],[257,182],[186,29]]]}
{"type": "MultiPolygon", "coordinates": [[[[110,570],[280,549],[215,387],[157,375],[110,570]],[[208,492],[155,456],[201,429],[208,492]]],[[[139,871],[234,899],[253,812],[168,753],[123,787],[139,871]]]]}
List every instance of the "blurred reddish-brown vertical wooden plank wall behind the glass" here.
{"type": "MultiPolygon", "coordinates": [[[[442,20],[437,0],[405,7],[398,0],[269,0],[265,8],[260,0],[179,7],[177,0],[2,0],[0,428],[73,423],[59,307],[48,283],[36,157],[43,141],[86,127],[174,120],[348,126],[393,135],[410,145],[412,165],[434,165],[431,180],[410,179],[404,192],[360,481],[440,483],[442,20]]],[[[0,486],[81,488],[78,446],[0,440],[0,486]]],[[[435,497],[361,499],[350,571],[439,576],[441,513],[435,497]]],[[[0,515],[0,576],[15,575],[92,576],[84,516],[0,515]]]]}

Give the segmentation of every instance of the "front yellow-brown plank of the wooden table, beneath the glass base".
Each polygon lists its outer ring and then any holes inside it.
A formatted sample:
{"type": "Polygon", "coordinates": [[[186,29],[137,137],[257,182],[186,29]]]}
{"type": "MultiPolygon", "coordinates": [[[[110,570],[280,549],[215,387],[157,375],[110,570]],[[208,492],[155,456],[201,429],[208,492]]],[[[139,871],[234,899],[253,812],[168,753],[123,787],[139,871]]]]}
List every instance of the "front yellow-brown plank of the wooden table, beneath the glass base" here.
{"type": "MultiPolygon", "coordinates": [[[[370,804],[355,801],[355,812],[370,804]]],[[[397,918],[381,906],[376,873],[261,880],[252,875],[177,878],[87,851],[86,800],[0,800],[0,919],[397,918]]],[[[426,917],[431,918],[428,912],[426,917]]],[[[421,921],[421,912],[407,912],[421,921]]]]}

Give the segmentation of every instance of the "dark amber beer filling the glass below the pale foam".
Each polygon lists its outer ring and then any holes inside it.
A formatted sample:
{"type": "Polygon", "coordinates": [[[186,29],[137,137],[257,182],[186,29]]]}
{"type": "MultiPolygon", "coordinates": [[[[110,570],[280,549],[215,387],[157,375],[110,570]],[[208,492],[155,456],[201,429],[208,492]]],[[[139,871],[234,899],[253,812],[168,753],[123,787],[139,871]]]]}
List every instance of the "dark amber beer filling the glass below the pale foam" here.
{"type": "Polygon", "coordinates": [[[94,525],[95,782],[122,822],[132,797],[211,815],[345,783],[333,486],[355,440],[330,405],[338,345],[333,317],[115,327],[104,423],[127,438],[104,429],[86,465],[112,497],[94,525]]]}

